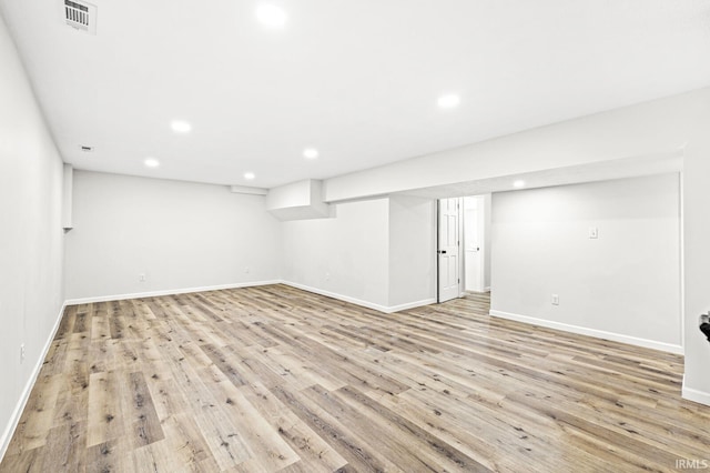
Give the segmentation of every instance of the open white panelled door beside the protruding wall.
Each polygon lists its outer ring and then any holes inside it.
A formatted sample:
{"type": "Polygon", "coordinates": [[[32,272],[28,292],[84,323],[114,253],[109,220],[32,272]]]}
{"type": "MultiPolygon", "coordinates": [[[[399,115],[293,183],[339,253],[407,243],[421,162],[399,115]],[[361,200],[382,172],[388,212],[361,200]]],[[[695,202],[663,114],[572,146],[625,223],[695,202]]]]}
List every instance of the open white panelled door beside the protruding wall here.
{"type": "Polygon", "coordinates": [[[449,301],[460,294],[460,199],[439,200],[439,302],[449,301]]]}

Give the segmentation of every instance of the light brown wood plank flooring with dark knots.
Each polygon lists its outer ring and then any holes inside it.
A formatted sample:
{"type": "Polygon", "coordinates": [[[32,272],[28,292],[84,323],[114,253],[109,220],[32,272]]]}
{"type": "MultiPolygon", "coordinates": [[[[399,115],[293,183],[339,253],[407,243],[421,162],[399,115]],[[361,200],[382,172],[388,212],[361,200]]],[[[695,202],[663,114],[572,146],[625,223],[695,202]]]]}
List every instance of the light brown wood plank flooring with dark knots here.
{"type": "MultiPolygon", "coordinates": [[[[284,285],[67,309],[0,472],[626,472],[710,460],[682,358],[284,285]]],[[[699,464],[699,463],[696,463],[699,464]]]]}

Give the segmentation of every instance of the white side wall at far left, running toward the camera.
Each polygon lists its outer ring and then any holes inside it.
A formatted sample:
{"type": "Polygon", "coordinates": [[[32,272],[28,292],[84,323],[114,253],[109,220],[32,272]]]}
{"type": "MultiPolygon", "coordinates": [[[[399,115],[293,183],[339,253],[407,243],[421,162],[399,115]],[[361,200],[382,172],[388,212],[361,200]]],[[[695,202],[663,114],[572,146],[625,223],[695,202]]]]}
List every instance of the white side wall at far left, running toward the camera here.
{"type": "Polygon", "coordinates": [[[1,18],[0,64],[2,457],[61,313],[63,243],[61,158],[1,18]]]}

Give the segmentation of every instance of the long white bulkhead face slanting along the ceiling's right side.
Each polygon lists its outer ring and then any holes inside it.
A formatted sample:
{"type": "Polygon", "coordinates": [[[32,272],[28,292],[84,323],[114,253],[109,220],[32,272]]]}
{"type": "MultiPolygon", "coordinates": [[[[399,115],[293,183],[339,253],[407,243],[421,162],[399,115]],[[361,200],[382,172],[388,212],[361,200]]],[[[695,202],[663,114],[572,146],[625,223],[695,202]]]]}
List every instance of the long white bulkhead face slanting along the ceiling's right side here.
{"type": "MultiPolygon", "coordinates": [[[[672,159],[700,127],[687,109],[708,101],[710,88],[335,177],[324,182],[324,200],[362,199],[557,168],[606,168],[609,161],[619,161],[621,167],[623,160],[633,163],[662,154],[672,159]]],[[[584,172],[584,168],[569,172],[584,172]]]]}

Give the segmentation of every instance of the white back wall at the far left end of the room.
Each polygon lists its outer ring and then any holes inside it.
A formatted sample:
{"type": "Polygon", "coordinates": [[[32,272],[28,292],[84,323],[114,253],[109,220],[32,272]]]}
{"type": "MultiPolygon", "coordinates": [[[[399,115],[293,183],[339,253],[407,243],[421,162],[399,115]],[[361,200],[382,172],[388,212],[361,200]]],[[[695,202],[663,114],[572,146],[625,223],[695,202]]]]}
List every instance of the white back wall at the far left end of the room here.
{"type": "Polygon", "coordinates": [[[277,280],[280,228],[264,200],[223,185],[77,171],[67,298],[277,280]]]}

